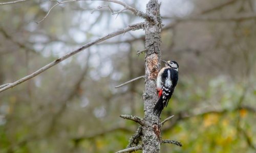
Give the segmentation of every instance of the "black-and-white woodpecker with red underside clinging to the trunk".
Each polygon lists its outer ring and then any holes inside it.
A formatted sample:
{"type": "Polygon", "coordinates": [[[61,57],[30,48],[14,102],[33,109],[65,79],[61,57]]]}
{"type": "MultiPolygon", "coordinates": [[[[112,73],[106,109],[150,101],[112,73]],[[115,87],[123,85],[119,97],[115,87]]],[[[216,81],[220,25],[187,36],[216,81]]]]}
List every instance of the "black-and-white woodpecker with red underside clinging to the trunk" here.
{"type": "Polygon", "coordinates": [[[178,82],[178,63],[175,61],[163,62],[165,63],[165,67],[157,75],[158,100],[154,107],[154,113],[156,114],[160,114],[163,108],[167,107],[168,101],[172,97],[178,82]]]}

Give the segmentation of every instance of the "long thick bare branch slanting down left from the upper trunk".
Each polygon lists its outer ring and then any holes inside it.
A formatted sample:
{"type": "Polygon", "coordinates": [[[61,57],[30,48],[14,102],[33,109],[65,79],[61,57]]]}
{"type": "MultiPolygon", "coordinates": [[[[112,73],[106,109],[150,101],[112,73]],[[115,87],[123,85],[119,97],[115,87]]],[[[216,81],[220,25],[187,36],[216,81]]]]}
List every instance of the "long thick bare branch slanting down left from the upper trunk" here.
{"type": "Polygon", "coordinates": [[[32,74],[27,75],[26,77],[24,77],[24,78],[22,78],[22,79],[20,79],[20,80],[18,80],[18,81],[15,81],[14,83],[10,83],[8,86],[6,86],[6,87],[0,89],[0,92],[5,91],[5,90],[7,90],[7,89],[9,89],[9,88],[12,88],[12,87],[14,87],[14,86],[16,86],[16,85],[18,85],[18,84],[21,84],[21,83],[23,83],[23,82],[25,82],[25,81],[27,81],[27,80],[29,80],[29,79],[35,77],[36,75],[40,74],[41,72],[44,72],[45,70],[51,68],[52,66],[54,66],[54,65],[56,65],[56,64],[58,64],[58,63],[60,63],[60,62],[63,61],[63,60],[66,60],[67,58],[69,58],[69,57],[71,57],[71,56],[73,56],[73,55],[75,55],[75,54],[81,52],[82,50],[84,50],[84,49],[86,49],[86,48],[88,48],[88,47],[90,47],[90,46],[92,46],[92,45],[94,45],[94,44],[100,43],[100,42],[102,42],[102,41],[104,41],[104,40],[106,40],[106,39],[110,39],[110,38],[115,37],[115,36],[117,36],[117,35],[120,35],[120,34],[129,32],[129,31],[131,31],[131,30],[142,29],[143,26],[144,26],[144,22],[137,23],[137,24],[131,24],[131,25],[129,25],[128,27],[126,27],[126,28],[124,28],[124,29],[118,30],[118,31],[116,31],[116,32],[113,32],[113,33],[110,33],[110,34],[105,35],[105,36],[103,36],[103,37],[100,37],[100,38],[98,38],[98,39],[96,39],[96,40],[94,40],[94,41],[88,42],[87,44],[81,46],[80,48],[77,48],[76,50],[73,50],[72,52],[70,52],[70,53],[68,53],[68,54],[66,54],[66,55],[64,55],[64,56],[62,56],[62,57],[60,57],[60,58],[54,60],[53,62],[47,64],[46,66],[44,66],[44,67],[42,67],[42,68],[36,70],[36,71],[33,72],[32,74]]]}

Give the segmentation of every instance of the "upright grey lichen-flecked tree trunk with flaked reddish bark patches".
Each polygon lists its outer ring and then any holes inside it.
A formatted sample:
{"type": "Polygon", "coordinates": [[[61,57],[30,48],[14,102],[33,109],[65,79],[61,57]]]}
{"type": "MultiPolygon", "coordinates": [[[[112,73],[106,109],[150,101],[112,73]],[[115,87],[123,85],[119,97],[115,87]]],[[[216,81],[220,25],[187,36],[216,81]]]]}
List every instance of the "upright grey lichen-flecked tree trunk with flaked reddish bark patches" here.
{"type": "Polygon", "coordinates": [[[160,152],[160,117],[153,113],[157,101],[156,78],[161,67],[161,17],[158,0],[150,0],[146,5],[146,14],[154,18],[145,21],[145,90],[144,126],[142,127],[143,152],[160,152]]]}

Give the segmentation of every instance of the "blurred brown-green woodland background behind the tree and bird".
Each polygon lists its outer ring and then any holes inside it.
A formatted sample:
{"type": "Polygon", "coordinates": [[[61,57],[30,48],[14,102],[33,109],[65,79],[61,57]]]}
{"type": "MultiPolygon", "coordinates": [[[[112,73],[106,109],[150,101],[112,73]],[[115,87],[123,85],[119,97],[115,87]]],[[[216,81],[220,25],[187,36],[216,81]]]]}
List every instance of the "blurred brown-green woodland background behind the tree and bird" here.
{"type": "MultiPolygon", "coordinates": [[[[10,1],[1,1],[10,2],[10,1]]],[[[123,2],[145,12],[147,0],[123,2]]],[[[161,119],[162,152],[256,152],[256,1],[162,0],[162,59],[179,82],[161,119]]],[[[143,21],[122,6],[79,1],[0,6],[0,84],[100,36],[143,21]],[[109,5],[109,7],[108,7],[109,5]],[[36,22],[33,22],[36,21],[36,22]]],[[[0,93],[0,152],[115,152],[143,117],[144,31],[106,40],[0,93]]],[[[140,152],[140,151],[138,151],[140,152]]]]}

